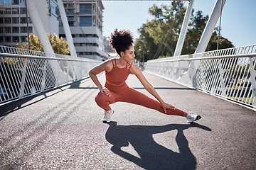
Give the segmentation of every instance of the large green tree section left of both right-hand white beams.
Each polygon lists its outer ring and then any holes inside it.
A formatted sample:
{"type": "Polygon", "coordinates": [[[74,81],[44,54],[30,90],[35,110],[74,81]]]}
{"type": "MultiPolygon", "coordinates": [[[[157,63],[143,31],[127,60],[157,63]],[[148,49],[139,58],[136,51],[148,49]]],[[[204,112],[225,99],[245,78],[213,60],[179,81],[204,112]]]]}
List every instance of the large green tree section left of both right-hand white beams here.
{"type": "Polygon", "coordinates": [[[181,30],[186,8],[181,1],[173,1],[171,6],[154,5],[149,8],[149,13],[154,19],[144,23],[139,28],[140,36],[135,42],[137,58],[142,61],[144,51],[145,61],[154,59],[157,55],[174,55],[175,45],[178,40],[178,33],[181,30]]]}

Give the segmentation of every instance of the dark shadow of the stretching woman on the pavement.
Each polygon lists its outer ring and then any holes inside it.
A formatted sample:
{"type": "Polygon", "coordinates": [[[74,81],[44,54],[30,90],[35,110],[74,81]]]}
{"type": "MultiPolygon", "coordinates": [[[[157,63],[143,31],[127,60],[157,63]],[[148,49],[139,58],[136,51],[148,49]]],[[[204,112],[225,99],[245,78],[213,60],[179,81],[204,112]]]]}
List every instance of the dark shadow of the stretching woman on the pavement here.
{"type": "Polygon", "coordinates": [[[188,140],[186,140],[183,130],[196,127],[211,131],[210,128],[197,123],[163,126],[117,125],[117,122],[107,124],[110,127],[106,132],[106,140],[113,145],[112,152],[129,162],[134,162],[143,169],[196,169],[196,157],[188,147],[188,140]],[[154,134],[171,130],[178,131],[176,142],[179,153],[154,141],[154,134]],[[121,147],[127,147],[129,144],[134,147],[139,157],[121,149],[121,147]]]}

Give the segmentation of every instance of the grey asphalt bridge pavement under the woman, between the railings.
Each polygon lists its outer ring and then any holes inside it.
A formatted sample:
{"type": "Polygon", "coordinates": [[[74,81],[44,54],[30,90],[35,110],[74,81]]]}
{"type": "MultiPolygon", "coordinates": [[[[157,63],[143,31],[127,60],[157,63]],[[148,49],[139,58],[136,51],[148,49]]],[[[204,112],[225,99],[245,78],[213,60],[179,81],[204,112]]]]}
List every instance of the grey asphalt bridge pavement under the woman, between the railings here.
{"type": "MultiPolygon", "coordinates": [[[[0,106],[0,169],[256,169],[255,111],[144,75],[164,101],[202,119],[114,103],[102,123],[85,79],[0,106]]],[[[127,84],[150,96],[136,77],[127,84]]]]}

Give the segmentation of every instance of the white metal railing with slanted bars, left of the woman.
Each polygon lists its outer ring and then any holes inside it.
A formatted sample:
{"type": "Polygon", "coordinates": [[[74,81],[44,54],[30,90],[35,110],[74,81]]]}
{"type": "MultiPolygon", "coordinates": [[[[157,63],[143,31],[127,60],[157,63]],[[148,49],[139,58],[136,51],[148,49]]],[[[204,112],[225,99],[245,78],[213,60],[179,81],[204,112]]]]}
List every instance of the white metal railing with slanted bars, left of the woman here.
{"type": "Polygon", "coordinates": [[[85,79],[100,62],[0,45],[0,105],[85,79]]]}

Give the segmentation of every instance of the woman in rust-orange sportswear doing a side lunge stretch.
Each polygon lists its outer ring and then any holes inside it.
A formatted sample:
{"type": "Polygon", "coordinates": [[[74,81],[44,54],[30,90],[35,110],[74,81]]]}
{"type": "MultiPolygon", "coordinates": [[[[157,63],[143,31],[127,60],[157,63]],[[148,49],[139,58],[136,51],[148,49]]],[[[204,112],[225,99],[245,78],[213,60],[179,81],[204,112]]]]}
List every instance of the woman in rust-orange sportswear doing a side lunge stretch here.
{"type": "Polygon", "coordinates": [[[111,33],[110,45],[117,52],[119,58],[102,62],[102,64],[92,68],[89,72],[90,78],[100,89],[100,92],[95,97],[95,101],[100,108],[105,110],[103,121],[110,122],[111,115],[114,113],[112,108],[110,108],[110,104],[117,101],[145,106],[166,115],[183,116],[187,118],[188,123],[200,119],[200,115],[181,111],[161,99],[154,87],[146,80],[139,67],[132,63],[135,57],[133,43],[132,33],[129,30],[114,30],[114,33],[111,33]],[[103,87],[96,75],[104,71],[106,83],[103,87]],[[158,101],[130,88],[125,82],[129,74],[135,74],[146,91],[149,91],[158,101]]]}

